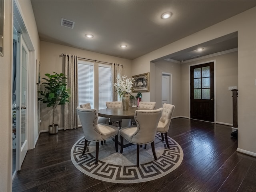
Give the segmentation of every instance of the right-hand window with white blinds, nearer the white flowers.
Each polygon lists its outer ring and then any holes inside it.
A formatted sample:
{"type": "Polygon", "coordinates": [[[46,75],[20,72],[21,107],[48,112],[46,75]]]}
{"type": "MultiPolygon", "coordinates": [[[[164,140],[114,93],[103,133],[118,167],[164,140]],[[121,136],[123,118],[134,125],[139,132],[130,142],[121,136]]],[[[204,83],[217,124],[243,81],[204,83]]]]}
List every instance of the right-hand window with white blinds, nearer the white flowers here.
{"type": "Polygon", "coordinates": [[[111,101],[112,78],[111,66],[99,64],[99,109],[106,108],[106,101],[111,101]]]}

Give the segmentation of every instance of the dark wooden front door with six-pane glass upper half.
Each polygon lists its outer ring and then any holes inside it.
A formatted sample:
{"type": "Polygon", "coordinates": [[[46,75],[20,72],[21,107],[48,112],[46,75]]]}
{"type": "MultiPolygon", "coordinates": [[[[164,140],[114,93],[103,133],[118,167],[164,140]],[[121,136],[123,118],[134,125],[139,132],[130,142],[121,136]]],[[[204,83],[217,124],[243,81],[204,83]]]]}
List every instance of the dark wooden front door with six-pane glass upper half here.
{"type": "Polygon", "coordinates": [[[190,118],[214,122],[214,62],[190,67],[190,118]]]}

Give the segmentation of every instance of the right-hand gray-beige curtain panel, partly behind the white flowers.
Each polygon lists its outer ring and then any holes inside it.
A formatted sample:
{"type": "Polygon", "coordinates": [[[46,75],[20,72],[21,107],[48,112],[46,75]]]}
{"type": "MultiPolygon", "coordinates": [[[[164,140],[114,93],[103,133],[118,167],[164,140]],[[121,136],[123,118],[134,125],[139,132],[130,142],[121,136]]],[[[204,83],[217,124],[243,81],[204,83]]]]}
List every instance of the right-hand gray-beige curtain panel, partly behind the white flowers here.
{"type": "MultiPolygon", "coordinates": [[[[117,83],[117,78],[122,78],[122,70],[123,65],[112,63],[111,65],[111,71],[112,71],[112,82],[117,83]]],[[[121,101],[121,99],[118,97],[118,92],[116,91],[116,88],[112,86],[112,101],[121,101]]]]}

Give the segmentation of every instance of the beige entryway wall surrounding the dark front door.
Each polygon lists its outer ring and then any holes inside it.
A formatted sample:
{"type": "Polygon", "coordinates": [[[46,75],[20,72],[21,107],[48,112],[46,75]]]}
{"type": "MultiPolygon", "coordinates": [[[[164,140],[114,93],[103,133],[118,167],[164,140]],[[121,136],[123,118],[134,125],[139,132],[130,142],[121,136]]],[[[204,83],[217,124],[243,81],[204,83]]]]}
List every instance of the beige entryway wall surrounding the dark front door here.
{"type": "Polygon", "coordinates": [[[189,66],[215,60],[216,62],[216,122],[232,125],[232,91],[228,86],[238,87],[238,52],[182,64],[182,116],[189,116],[189,66]]]}

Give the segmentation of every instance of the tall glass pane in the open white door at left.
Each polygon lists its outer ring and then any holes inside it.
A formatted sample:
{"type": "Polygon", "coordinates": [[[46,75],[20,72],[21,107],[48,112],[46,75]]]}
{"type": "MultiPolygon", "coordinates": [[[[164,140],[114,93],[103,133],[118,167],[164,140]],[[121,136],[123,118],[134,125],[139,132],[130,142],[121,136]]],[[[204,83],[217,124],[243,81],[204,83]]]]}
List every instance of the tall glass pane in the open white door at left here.
{"type": "MultiPolygon", "coordinates": [[[[27,63],[28,63],[28,53],[26,50],[22,47],[22,67],[21,67],[21,73],[22,73],[22,79],[21,79],[21,106],[27,106],[26,103],[26,97],[27,97],[27,63]]],[[[21,112],[21,146],[27,140],[27,133],[26,133],[26,109],[20,109],[21,112]]]]}

